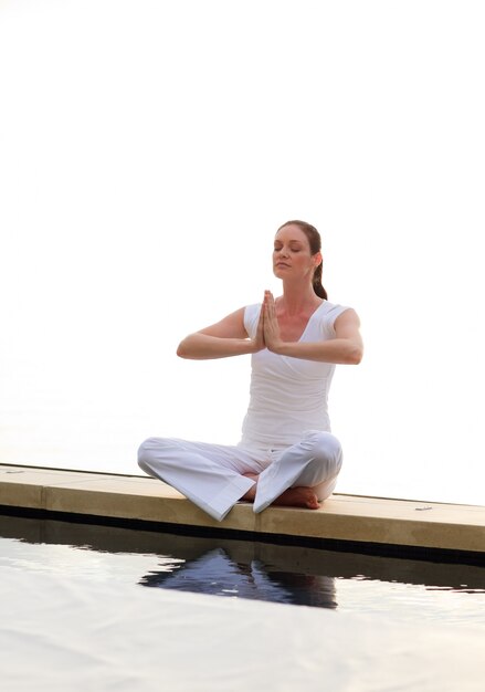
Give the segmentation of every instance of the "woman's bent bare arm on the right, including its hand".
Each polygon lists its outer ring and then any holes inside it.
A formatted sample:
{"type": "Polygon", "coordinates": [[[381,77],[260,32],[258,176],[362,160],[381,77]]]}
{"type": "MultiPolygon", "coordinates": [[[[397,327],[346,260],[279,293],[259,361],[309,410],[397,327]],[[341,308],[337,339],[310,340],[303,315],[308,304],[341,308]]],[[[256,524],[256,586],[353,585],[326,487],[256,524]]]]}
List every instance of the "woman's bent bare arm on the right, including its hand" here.
{"type": "Polygon", "coordinates": [[[360,319],[348,308],[334,323],[335,338],[325,342],[283,342],[274,310],[274,301],[266,300],[264,307],[264,340],[266,348],[281,356],[358,365],[362,359],[363,345],[360,336],[360,319]]]}

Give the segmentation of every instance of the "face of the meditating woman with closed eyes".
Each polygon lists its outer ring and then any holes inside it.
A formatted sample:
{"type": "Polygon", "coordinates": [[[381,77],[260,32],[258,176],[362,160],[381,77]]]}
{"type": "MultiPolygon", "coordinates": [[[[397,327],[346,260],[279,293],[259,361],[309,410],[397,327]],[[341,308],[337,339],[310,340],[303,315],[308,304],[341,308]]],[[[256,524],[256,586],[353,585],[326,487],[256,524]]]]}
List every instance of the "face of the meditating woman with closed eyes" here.
{"type": "Polygon", "coordinates": [[[273,272],[278,279],[308,279],[312,282],[321,254],[312,254],[309,242],[301,228],[289,223],[275,235],[273,272]]]}

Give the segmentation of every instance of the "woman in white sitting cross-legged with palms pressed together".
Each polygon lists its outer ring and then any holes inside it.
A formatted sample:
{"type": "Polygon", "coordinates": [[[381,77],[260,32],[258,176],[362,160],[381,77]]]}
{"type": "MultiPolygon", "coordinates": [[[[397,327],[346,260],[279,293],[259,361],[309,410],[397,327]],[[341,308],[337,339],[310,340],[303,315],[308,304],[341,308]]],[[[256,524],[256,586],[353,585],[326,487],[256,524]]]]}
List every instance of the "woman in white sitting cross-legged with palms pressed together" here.
{"type": "Polygon", "coordinates": [[[341,448],[330,433],[327,397],[335,364],[357,364],[362,343],[354,310],[329,303],[321,285],[318,231],[283,224],[274,240],[273,271],[283,295],[266,291],[187,336],[182,358],[252,354],[251,396],[238,445],[149,438],[138,463],[221,521],[239,501],[254,512],[270,504],[318,508],[333,492],[341,448]]]}

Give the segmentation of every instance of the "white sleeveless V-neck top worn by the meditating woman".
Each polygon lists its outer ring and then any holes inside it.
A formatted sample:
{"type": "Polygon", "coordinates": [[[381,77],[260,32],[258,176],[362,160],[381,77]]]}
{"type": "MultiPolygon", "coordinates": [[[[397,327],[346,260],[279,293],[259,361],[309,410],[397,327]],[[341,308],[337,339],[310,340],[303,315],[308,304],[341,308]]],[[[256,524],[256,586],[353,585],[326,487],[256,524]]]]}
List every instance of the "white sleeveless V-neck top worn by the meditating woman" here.
{"type": "MultiPolygon", "coordinates": [[[[310,316],[299,342],[335,337],[334,323],[348,307],[324,301],[310,316]]],[[[244,311],[244,326],[254,338],[261,304],[244,311]]],[[[330,431],[328,390],[335,364],[273,354],[251,357],[250,403],[240,447],[280,450],[298,442],[307,430],[330,431]]]]}

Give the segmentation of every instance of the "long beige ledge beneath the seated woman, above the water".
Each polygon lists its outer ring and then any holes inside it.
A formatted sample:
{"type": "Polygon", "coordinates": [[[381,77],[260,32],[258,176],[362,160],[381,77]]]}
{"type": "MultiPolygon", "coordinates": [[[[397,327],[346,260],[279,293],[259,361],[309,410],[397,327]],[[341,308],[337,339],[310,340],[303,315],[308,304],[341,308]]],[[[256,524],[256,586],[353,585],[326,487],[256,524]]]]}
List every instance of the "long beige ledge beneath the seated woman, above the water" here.
{"type": "Polygon", "coordinates": [[[178,527],[203,527],[339,542],[472,553],[485,563],[485,507],[335,494],[319,510],[268,507],[254,514],[240,503],[217,522],[177,491],[138,475],[0,465],[0,505],[77,517],[104,517],[178,527]]]}

